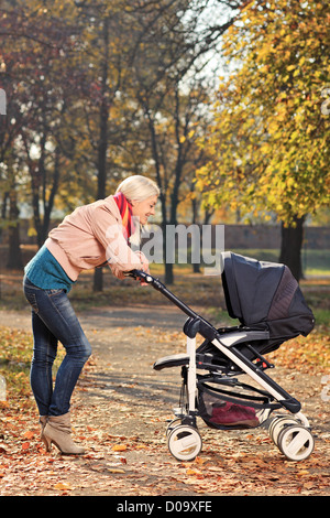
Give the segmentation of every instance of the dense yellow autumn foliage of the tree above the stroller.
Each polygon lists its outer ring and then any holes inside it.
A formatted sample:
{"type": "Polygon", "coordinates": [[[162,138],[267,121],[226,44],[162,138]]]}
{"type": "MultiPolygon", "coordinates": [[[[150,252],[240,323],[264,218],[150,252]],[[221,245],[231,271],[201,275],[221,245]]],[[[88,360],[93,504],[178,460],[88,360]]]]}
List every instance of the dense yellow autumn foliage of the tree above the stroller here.
{"type": "Polygon", "coordinates": [[[286,223],[329,204],[329,18],[326,1],[252,1],[224,35],[234,72],[220,84],[201,142],[211,160],[197,174],[208,204],[286,223]]]}

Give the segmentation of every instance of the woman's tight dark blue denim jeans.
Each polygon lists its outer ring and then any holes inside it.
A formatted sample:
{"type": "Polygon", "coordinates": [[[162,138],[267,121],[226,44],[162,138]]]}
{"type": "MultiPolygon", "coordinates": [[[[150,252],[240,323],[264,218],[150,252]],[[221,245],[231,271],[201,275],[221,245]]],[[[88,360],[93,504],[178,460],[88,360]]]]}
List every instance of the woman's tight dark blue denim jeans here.
{"type": "Polygon", "coordinates": [[[91,347],[65,290],[36,288],[26,277],[23,289],[32,306],[31,388],[40,416],[63,416],[69,411],[74,388],[91,347]],[[53,389],[52,367],[58,342],[65,347],[66,355],[53,389]]]}

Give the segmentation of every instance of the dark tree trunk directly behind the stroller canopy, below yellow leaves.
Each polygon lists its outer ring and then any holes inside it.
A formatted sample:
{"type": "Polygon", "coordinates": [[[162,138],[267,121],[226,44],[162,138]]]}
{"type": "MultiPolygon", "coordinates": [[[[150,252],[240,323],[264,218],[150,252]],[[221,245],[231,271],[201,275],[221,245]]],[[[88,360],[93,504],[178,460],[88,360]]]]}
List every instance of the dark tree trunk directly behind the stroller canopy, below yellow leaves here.
{"type": "Polygon", "coordinates": [[[294,218],[294,225],[282,224],[282,244],[279,262],[286,265],[293,276],[299,280],[302,278],[301,248],[304,241],[305,216],[294,218]]]}

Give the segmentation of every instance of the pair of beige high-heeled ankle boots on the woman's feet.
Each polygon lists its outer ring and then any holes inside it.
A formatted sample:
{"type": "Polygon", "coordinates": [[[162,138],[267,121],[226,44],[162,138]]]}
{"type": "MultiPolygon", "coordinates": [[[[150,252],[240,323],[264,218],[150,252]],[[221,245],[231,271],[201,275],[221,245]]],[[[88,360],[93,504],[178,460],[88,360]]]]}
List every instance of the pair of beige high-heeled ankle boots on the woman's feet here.
{"type": "Polygon", "coordinates": [[[82,455],[85,453],[84,447],[77,446],[72,439],[70,412],[64,416],[48,417],[43,441],[47,452],[51,451],[52,443],[54,443],[64,455],[82,455]]]}

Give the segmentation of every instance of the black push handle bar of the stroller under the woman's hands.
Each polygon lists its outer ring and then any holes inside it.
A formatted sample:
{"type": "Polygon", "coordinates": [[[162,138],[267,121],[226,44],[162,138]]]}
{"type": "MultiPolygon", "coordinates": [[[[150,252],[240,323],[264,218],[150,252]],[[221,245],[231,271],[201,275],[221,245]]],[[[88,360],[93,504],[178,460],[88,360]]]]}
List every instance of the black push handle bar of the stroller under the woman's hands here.
{"type": "Polygon", "coordinates": [[[184,332],[187,336],[194,337],[197,333],[200,333],[205,338],[213,339],[217,335],[217,330],[195,311],[191,310],[187,304],[185,304],[180,299],[178,299],[172,291],[169,291],[160,279],[146,273],[142,270],[131,270],[127,272],[127,277],[132,277],[133,279],[140,279],[151,284],[155,290],[160,291],[166,299],[173,302],[177,307],[179,307],[186,315],[189,316],[188,321],[185,324],[184,332]]]}

